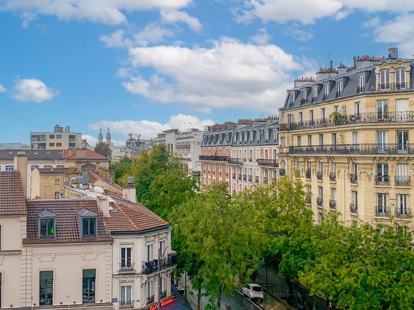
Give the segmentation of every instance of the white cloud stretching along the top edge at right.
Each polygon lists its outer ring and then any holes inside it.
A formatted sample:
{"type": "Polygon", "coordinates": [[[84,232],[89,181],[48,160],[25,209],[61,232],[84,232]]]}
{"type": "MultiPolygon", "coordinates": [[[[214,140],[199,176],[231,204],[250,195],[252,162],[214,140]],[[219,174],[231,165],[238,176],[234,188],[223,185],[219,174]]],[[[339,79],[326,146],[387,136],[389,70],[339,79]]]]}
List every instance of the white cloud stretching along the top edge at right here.
{"type": "Polygon", "coordinates": [[[289,20],[312,24],[316,19],[341,19],[354,10],[404,13],[414,9],[413,0],[246,0],[243,8],[234,10],[236,22],[250,22],[254,17],[263,21],[284,23],[289,20]]]}

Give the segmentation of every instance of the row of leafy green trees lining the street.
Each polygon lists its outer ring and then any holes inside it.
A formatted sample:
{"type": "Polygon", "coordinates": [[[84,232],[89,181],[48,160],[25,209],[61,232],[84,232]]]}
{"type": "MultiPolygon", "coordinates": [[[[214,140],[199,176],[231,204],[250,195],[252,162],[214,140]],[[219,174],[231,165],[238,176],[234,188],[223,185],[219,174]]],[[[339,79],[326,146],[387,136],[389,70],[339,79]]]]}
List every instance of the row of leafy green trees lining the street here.
{"type": "Polygon", "coordinates": [[[203,289],[210,309],[220,309],[222,294],[249,282],[264,261],[290,294],[299,281],[339,309],[414,309],[412,237],[397,222],[357,228],[325,213],[315,226],[303,184],[285,177],[232,196],[225,183],[201,191],[164,145],[129,169],[138,200],[170,221],[178,272],[187,271],[199,305],[203,289]]]}

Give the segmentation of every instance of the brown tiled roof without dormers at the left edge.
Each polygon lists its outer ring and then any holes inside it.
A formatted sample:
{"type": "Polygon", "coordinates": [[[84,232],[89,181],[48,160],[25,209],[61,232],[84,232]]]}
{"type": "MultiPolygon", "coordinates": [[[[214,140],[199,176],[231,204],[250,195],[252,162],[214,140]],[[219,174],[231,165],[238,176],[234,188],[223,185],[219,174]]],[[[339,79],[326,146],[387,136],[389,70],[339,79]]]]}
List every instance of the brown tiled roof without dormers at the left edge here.
{"type": "Polygon", "coordinates": [[[0,171],[0,215],[27,214],[19,171],[0,171]]]}

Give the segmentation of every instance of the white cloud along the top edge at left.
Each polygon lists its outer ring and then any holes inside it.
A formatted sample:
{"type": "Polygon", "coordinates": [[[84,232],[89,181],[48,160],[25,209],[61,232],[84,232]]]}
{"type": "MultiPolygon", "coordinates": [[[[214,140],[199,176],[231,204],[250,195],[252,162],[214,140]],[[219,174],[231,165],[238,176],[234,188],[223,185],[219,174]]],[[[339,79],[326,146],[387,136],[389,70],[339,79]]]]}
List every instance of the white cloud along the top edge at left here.
{"type": "MultiPolygon", "coordinates": [[[[187,6],[192,0],[4,0],[3,9],[54,15],[65,21],[89,20],[109,25],[127,22],[122,11],[171,9],[187,6]]],[[[24,18],[24,17],[23,17],[24,18]]]]}

